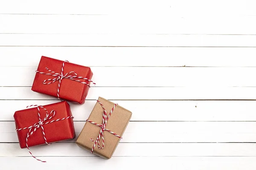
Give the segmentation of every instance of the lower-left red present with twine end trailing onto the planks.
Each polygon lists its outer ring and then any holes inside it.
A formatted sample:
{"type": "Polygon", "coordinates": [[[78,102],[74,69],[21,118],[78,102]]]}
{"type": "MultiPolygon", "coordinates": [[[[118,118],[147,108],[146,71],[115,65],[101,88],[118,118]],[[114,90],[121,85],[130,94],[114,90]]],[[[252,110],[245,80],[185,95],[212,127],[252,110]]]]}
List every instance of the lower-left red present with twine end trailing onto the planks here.
{"type": "MultiPolygon", "coordinates": [[[[28,107],[33,108],[16,111],[14,114],[21,148],[26,147],[29,150],[31,146],[75,138],[74,117],[66,101],[28,107]]],[[[31,154],[30,151],[29,153],[31,154]]]]}

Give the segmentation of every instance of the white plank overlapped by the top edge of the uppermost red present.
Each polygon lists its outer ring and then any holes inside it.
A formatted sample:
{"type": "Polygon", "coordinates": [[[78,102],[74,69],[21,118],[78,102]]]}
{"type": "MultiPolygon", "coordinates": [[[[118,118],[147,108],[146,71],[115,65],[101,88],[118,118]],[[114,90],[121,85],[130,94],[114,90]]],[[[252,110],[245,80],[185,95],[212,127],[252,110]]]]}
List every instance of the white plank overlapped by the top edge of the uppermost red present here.
{"type": "Polygon", "coordinates": [[[223,47],[0,47],[0,66],[37,66],[42,55],[90,67],[256,67],[256,48],[223,47]]]}

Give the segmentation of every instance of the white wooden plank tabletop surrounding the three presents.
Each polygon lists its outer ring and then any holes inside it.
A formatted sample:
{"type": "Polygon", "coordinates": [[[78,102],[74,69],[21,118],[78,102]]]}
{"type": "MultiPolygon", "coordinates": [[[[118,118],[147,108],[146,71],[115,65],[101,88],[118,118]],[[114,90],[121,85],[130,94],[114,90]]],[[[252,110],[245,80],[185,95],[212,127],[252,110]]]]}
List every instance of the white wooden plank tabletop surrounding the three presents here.
{"type": "Polygon", "coordinates": [[[0,0],[0,169],[256,169],[254,0],[0,0]],[[98,96],[133,116],[109,160],[74,141],[20,149],[13,114],[40,57],[90,66],[78,135],[98,96]]]}

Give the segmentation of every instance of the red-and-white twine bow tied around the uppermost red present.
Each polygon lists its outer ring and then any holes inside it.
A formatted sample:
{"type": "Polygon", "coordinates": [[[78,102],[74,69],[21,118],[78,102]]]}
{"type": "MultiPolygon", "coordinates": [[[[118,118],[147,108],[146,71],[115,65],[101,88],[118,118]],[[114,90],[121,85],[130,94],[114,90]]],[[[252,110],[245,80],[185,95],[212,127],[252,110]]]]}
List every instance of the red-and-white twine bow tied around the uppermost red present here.
{"type": "Polygon", "coordinates": [[[46,74],[46,75],[51,75],[51,76],[54,76],[54,77],[57,77],[57,78],[54,78],[54,79],[45,79],[43,81],[43,84],[45,85],[49,85],[51,83],[54,83],[56,81],[58,81],[58,91],[57,91],[57,96],[58,96],[58,99],[60,99],[60,86],[61,86],[61,80],[62,79],[70,79],[70,80],[74,80],[76,82],[80,82],[80,83],[83,83],[85,85],[88,85],[90,87],[90,84],[86,83],[86,82],[82,82],[81,80],[78,80],[78,79],[84,79],[84,80],[87,80],[88,82],[92,82],[94,85],[96,85],[96,83],[94,83],[92,80],[90,79],[87,79],[85,77],[79,77],[77,76],[76,72],[75,71],[70,71],[66,74],[63,74],[64,72],[64,65],[65,65],[65,62],[69,62],[67,60],[65,60],[62,64],[62,67],[61,67],[61,74],[59,73],[56,73],[54,71],[51,71],[49,68],[46,67],[47,71],[51,72],[51,73],[44,73],[44,72],[40,72],[40,71],[35,71],[36,73],[39,73],[39,74],[46,74]]]}

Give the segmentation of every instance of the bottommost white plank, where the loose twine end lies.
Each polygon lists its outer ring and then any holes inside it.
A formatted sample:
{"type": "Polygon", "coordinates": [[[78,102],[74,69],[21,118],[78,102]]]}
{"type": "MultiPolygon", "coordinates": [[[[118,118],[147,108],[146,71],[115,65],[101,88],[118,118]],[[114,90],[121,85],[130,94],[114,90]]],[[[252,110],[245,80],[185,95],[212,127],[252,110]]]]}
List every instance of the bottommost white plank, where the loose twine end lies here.
{"type": "Polygon", "coordinates": [[[134,168],[155,168],[175,170],[255,170],[255,157],[112,157],[105,160],[99,157],[43,157],[47,164],[32,160],[31,157],[0,157],[0,168],[22,169],[81,169],[131,170],[134,168]],[[15,164],[9,164],[15,162],[15,164]],[[29,164],[29,166],[28,166],[29,164]]]}

